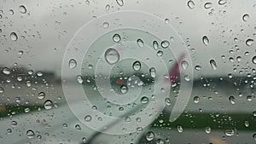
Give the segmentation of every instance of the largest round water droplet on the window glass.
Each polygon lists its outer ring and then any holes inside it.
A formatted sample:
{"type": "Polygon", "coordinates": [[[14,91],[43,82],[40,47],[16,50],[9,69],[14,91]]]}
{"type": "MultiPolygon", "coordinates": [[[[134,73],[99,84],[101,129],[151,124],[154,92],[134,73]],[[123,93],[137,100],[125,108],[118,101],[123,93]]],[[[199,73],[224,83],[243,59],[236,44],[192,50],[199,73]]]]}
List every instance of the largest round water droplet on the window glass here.
{"type": "Polygon", "coordinates": [[[119,52],[116,49],[109,48],[105,51],[105,60],[113,65],[119,61],[119,52]]]}

